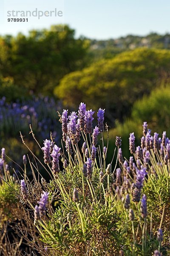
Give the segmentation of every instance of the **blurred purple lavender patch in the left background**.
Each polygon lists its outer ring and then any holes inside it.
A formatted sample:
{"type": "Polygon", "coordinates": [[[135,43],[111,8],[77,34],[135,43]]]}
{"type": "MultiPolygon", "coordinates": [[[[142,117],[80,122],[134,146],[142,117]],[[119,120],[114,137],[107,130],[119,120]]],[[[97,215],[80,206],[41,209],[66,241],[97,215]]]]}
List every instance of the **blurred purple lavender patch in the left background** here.
{"type": "Polygon", "coordinates": [[[0,133],[5,132],[8,136],[15,136],[21,130],[28,133],[31,124],[38,139],[45,139],[52,131],[58,140],[57,109],[60,110],[61,106],[49,97],[33,97],[21,103],[8,103],[3,97],[0,99],[0,133]]]}

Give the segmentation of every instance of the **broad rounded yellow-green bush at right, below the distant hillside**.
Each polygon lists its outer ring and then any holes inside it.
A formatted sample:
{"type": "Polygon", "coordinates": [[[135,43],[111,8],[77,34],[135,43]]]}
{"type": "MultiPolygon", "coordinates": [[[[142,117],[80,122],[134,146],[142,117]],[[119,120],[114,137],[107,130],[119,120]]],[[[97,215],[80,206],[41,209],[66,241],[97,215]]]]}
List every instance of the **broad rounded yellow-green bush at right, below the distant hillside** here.
{"type": "Polygon", "coordinates": [[[122,120],[136,99],[169,77],[170,51],[136,49],[66,75],[55,94],[69,107],[80,101],[89,108],[107,108],[107,118],[122,120]]]}

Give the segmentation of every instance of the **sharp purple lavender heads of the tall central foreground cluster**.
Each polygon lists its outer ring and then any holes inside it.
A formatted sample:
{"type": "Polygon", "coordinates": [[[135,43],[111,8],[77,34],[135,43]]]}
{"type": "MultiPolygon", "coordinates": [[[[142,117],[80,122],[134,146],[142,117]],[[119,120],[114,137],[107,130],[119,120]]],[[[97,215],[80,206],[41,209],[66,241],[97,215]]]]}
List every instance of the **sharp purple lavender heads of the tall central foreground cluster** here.
{"type": "MultiPolygon", "coordinates": [[[[87,136],[89,134],[92,137],[91,150],[89,151],[86,143],[82,145],[82,153],[84,154],[86,160],[83,166],[84,175],[90,176],[92,173],[92,167],[96,160],[97,152],[97,137],[99,133],[104,131],[104,113],[105,110],[99,108],[97,112],[97,126],[93,128],[94,111],[86,110],[86,105],[80,103],[78,113],[71,112],[68,116],[68,110],[63,110],[61,120],[62,120],[62,140],[65,142],[65,148],[68,155],[71,156],[74,150],[74,145],[80,141],[81,136],[87,136]]],[[[121,145],[121,139],[117,137],[116,145],[121,145]]],[[[44,162],[49,164],[52,162],[52,171],[54,175],[59,173],[59,157],[60,149],[57,145],[51,146],[51,140],[44,141],[44,162]],[[52,148],[52,154],[51,149],[52,148]],[[52,157],[52,161],[51,161],[52,157]]],[[[103,148],[103,156],[106,157],[107,148],[103,148]]],[[[63,160],[64,164],[67,165],[66,160],[63,160]]]]}

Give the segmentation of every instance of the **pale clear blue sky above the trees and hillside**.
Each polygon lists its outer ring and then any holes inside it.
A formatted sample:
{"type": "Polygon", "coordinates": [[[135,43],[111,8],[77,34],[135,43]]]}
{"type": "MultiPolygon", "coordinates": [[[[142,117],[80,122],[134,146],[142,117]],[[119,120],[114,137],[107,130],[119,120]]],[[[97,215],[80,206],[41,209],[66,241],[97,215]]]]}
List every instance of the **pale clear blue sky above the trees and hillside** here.
{"type": "Polygon", "coordinates": [[[0,0],[0,34],[27,34],[31,29],[65,23],[76,37],[118,38],[128,34],[170,33],[170,0],[0,0]],[[18,3],[18,5],[17,5],[18,3]],[[28,22],[7,22],[7,10],[62,10],[62,17],[28,17],[28,22]],[[4,5],[4,6],[3,6],[4,5]]]}

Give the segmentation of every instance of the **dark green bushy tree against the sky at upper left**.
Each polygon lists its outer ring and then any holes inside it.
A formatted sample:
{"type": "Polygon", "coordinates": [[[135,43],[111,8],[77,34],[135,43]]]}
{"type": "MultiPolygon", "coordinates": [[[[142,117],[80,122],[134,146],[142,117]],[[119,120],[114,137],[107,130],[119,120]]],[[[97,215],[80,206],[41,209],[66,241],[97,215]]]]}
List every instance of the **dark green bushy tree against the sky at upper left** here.
{"type": "Polygon", "coordinates": [[[32,31],[29,35],[0,38],[0,73],[12,77],[14,84],[35,93],[50,94],[65,74],[84,67],[88,41],[75,39],[74,29],[59,26],[32,31]]]}

